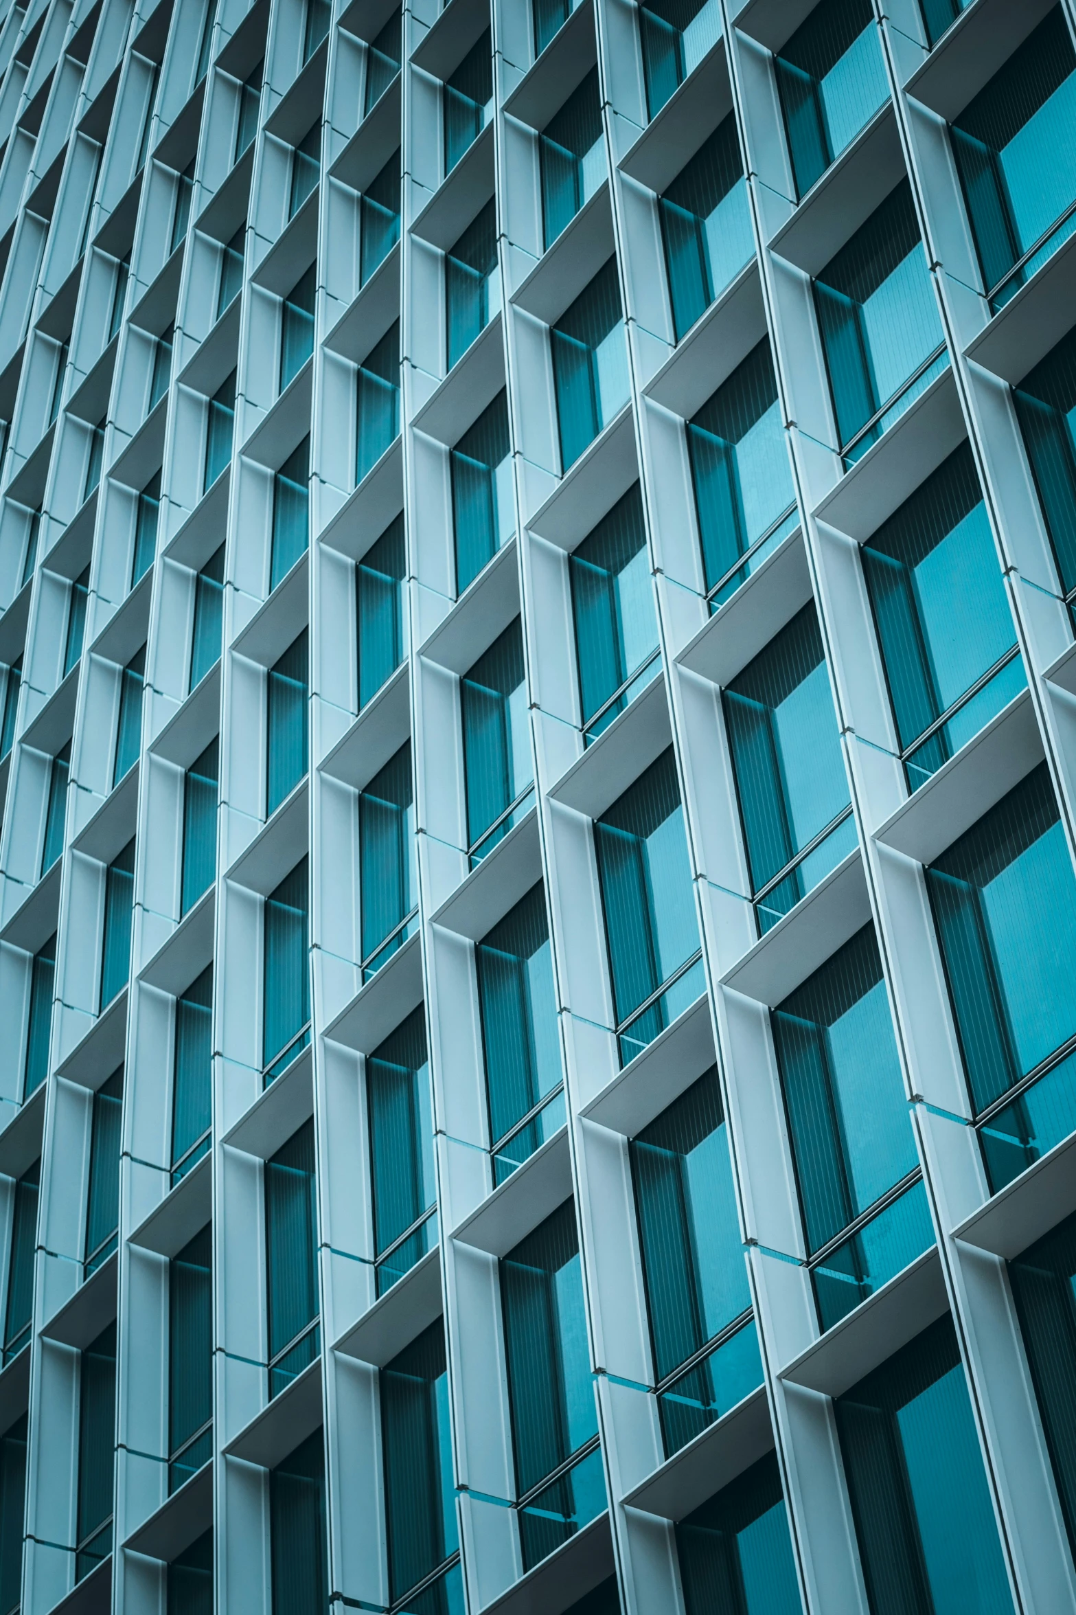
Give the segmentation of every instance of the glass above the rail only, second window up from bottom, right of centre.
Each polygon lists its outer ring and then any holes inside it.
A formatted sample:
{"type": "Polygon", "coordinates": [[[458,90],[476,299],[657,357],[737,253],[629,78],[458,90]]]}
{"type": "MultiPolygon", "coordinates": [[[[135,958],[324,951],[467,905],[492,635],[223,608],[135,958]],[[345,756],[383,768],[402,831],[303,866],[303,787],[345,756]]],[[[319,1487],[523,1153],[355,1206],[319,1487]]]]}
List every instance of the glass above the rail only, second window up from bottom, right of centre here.
{"type": "Polygon", "coordinates": [[[653,1371],[665,1379],[752,1303],[718,1068],[644,1127],[629,1155],[653,1371]]]}

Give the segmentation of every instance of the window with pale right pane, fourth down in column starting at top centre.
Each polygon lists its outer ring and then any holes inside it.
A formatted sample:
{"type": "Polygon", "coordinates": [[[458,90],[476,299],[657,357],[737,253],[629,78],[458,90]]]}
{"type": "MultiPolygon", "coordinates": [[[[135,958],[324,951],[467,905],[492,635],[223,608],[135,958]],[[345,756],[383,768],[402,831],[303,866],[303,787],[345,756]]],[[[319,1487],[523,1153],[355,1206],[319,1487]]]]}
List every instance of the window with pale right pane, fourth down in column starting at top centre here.
{"type": "Polygon", "coordinates": [[[586,740],[597,740],[661,662],[639,483],[568,557],[586,740]]]}

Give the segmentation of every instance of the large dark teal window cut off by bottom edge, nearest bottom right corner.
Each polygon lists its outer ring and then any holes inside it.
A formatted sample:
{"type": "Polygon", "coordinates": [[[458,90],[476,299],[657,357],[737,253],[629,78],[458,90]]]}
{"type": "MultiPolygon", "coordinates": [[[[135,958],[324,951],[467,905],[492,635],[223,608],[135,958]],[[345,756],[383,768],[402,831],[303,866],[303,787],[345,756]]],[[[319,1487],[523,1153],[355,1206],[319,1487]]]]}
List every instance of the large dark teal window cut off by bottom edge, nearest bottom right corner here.
{"type": "Polygon", "coordinates": [[[949,1315],[834,1402],[871,1615],[1011,1615],[949,1315]]]}

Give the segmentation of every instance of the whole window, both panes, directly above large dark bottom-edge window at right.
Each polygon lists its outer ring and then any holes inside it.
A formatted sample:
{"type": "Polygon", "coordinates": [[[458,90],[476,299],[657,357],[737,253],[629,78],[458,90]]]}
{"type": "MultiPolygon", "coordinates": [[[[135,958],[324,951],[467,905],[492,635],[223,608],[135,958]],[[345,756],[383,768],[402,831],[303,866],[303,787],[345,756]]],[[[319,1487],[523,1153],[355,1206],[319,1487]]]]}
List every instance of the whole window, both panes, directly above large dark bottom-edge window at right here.
{"type": "Polygon", "coordinates": [[[823,1329],[934,1244],[874,927],[769,1013],[823,1329]]]}

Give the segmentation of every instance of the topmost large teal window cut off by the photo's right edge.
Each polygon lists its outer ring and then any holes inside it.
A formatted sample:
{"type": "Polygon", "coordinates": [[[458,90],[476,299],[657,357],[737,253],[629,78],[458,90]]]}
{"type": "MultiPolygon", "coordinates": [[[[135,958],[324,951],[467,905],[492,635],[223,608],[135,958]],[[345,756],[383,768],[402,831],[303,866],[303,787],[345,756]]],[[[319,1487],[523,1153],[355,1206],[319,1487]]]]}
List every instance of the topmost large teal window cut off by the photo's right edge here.
{"type": "Polygon", "coordinates": [[[1074,128],[1076,55],[1055,5],[950,128],[994,310],[1073,233],[1070,220],[1053,226],[1076,202],[1074,128]]]}

